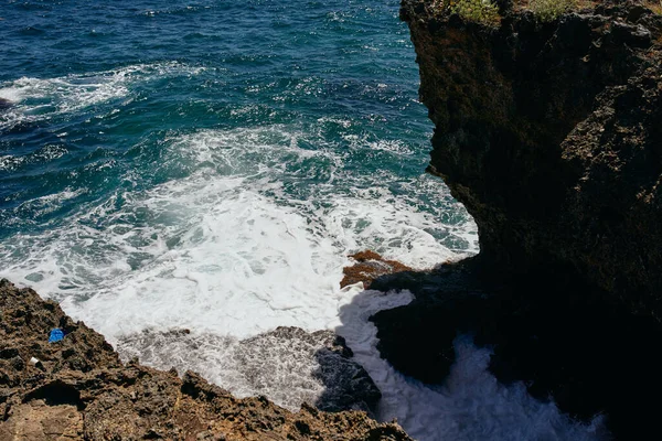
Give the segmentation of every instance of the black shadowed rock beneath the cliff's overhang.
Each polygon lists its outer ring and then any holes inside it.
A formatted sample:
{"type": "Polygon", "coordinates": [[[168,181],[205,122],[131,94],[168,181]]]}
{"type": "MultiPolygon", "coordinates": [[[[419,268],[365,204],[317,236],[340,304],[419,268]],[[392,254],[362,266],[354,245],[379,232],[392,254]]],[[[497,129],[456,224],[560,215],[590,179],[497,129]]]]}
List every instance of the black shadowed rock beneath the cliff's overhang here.
{"type": "Polygon", "coordinates": [[[637,316],[570,269],[506,279],[480,258],[375,279],[373,289],[409,289],[416,299],[371,318],[377,348],[395,368],[440,384],[455,362],[458,332],[493,349],[489,369],[503,384],[525,381],[584,421],[605,415],[623,439],[656,431],[662,326],[637,316]]]}

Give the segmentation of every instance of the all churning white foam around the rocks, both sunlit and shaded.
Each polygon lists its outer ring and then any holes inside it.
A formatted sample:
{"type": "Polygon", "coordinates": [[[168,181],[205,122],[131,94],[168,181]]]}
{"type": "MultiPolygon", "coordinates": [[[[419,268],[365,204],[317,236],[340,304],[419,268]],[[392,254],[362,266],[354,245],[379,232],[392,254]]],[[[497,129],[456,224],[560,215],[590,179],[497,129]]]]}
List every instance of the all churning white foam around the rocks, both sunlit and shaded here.
{"type": "MultiPolygon", "coordinates": [[[[40,236],[12,237],[0,246],[0,277],[60,300],[111,343],[146,329],[213,336],[204,356],[169,356],[239,395],[269,385],[253,389],[232,373],[225,354],[238,338],[279,325],[331,329],[382,389],[381,418],[397,418],[419,440],[600,439],[599,421],[573,423],[522,385],[500,386],[485,372],[489,353],[466,338],[457,341],[458,363],[444,387],[406,378],[380,357],[367,318],[413,297],[341,290],[346,255],[371,248],[426,268],[457,259],[440,244],[445,235],[466,239],[460,250],[474,251],[476,226],[445,225],[448,207],[420,209],[409,200],[449,197],[442,187],[429,192],[437,185],[431,178],[401,182],[406,191],[394,192],[387,172],[361,181],[344,172],[342,154],[300,147],[306,137],[281,126],[173,135],[158,166],[195,172],[149,191],[119,191],[40,236]],[[310,176],[314,182],[301,184],[310,176]]],[[[407,154],[397,143],[383,146],[407,154]]],[[[127,180],[139,179],[131,173],[127,180]]],[[[67,192],[33,203],[75,197],[67,192]]],[[[291,406],[297,398],[281,389],[269,394],[291,406]]]]}

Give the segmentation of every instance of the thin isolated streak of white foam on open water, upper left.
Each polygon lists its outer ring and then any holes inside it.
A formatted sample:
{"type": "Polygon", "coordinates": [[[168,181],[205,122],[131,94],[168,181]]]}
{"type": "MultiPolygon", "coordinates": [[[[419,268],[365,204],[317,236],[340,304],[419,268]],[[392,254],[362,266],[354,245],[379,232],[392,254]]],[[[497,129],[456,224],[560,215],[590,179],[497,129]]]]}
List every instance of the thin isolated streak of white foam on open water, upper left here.
{"type": "Polygon", "coordinates": [[[56,78],[21,77],[0,85],[0,98],[11,104],[0,112],[0,130],[125,98],[136,84],[171,76],[192,76],[203,71],[204,67],[164,62],[56,78]]]}

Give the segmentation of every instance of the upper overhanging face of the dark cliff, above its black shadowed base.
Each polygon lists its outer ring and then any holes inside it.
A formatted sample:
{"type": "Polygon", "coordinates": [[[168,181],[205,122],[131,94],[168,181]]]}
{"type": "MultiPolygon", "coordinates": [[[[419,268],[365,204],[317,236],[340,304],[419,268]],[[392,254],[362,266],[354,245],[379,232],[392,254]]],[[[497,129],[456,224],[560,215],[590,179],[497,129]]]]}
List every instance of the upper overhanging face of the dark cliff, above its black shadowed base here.
{"type": "Polygon", "coordinates": [[[429,171],[499,271],[579,277],[662,316],[662,18],[634,3],[495,29],[405,0],[429,171]]]}

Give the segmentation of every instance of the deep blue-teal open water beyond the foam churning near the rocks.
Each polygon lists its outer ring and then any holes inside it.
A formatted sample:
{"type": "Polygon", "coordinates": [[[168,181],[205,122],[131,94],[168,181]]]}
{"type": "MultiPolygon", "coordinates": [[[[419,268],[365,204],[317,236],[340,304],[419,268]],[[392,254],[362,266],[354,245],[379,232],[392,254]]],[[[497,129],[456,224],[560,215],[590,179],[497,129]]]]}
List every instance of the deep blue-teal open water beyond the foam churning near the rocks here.
{"type": "Polygon", "coordinates": [[[314,131],[300,147],[334,149],[353,173],[412,178],[425,168],[430,125],[416,101],[417,66],[395,1],[0,8],[0,97],[19,100],[0,116],[2,239],[108,197],[127,185],[127,170],[140,174],[136,190],[194,172],[159,164],[173,133],[286,125],[314,131]],[[361,146],[348,142],[352,136],[361,146]],[[370,149],[378,141],[397,141],[402,151],[370,149]],[[85,194],[46,214],[21,208],[65,189],[85,194]]]}

